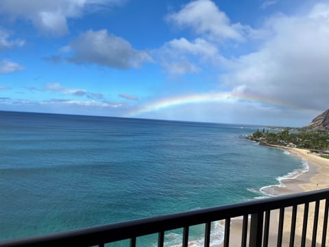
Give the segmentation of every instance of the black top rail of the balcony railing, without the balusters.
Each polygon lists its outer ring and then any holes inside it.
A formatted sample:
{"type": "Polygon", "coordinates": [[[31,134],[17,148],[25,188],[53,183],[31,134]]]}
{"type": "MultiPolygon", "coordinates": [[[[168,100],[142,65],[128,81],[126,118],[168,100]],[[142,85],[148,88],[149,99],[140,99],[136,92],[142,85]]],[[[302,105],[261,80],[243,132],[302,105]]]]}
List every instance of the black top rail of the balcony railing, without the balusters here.
{"type": "Polygon", "coordinates": [[[172,213],[103,226],[93,226],[51,235],[16,239],[8,242],[0,242],[0,246],[68,246],[77,244],[80,246],[94,246],[101,243],[130,239],[131,237],[159,233],[160,231],[169,231],[184,226],[223,220],[228,217],[292,207],[293,205],[323,199],[329,199],[329,189],[264,198],[261,200],[250,200],[219,207],[172,213]]]}

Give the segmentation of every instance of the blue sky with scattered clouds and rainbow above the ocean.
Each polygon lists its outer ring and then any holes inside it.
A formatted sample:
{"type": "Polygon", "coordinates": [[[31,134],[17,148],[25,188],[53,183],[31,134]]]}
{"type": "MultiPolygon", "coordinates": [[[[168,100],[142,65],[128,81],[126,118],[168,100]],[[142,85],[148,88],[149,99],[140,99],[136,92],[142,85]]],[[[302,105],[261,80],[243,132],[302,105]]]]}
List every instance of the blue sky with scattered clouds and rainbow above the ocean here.
{"type": "Polygon", "coordinates": [[[306,126],[328,95],[329,1],[0,1],[0,110],[306,126]]]}

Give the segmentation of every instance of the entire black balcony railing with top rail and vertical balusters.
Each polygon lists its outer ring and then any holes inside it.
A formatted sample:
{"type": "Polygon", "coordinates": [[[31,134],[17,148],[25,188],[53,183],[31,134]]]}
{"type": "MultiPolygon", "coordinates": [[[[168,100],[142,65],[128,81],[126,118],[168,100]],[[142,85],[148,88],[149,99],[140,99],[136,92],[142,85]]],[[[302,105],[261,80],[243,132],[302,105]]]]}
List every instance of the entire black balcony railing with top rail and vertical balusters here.
{"type": "Polygon", "coordinates": [[[284,241],[287,243],[284,246],[324,247],[329,246],[328,242],[326,244],[328,205],[329,189],[323,189],[0,242],[0,246],[104,246],[110,242],[129,239],[130,246],[134,247],[138,237],[156,233],[158,234],[157,245],[160,247],[164,246],[166,231],[182,228],[182,246],[185,247],[188,246],[189,229],[197,224],[204,224],[204,246],[210,246],[212,222],[219,220],[223,220],[225,227],[222,245],[230,246],[232,218],[240,216],[239,239],[241,242],[239,245],[241,243],[241,246],[282,246],[282,241],[284,241]],[[278,217],[273,217],[276,211],[278,211],[278,217]],[[298,237],[296,222],[302,222],[298,223],[302,224],[302,233],[298,237]],[[273,231],[269,238],[270,224],[274,224],[276,229],[274,239],[273,231]],[[290,233],[287,235],[287,232],[290,233]]]}

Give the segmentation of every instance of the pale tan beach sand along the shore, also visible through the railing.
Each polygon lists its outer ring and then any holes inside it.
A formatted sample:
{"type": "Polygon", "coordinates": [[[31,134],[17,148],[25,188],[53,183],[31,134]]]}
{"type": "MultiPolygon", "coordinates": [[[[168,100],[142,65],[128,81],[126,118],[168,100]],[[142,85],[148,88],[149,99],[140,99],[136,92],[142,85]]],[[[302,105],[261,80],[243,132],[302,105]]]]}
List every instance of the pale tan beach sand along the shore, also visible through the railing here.
{"type": "MultiPolygon", "coordinates": [[[[278,147],[282,148],[282,147],[278,147]]],[[[298,148],[284,148],[288,150],[291,155],[301,158],[302,161],[308,163],[308,172],[302,173],[297,178],[281,180],[283,186],[268,187],[267,193],[274,196],[287,195],[290,193],[300,193],[303,191],[314,191],[317,189],[329,188],[329,159],[312,154],[308,150],[298,148]]],[[[265,189],[266,190],[266,189],[265,189]]],[[[284,228],[282,246],[289,246],[289,238],[291,231],[291,211],[286,209],[284,211],[284,228]]],[[[311,237],[313,231],[315,203],[310,203],[308,209],[308,225],[306,234],[306,246],[311,246],[311,237]]],[[[294,246],[301,246],[301,235],[303,226],[304,205],[297,207],[297,221],[295,228],[295,244],[294,246]]],[[[269,246],[277,246],[278,233],[278,217],[279,211],[271,212],[271,221],[269,226],[269,246]]],[[[319,223],[317,228],[317,246],[321,246],[322,227],[324,220],[324,202],[320,203],[319,223]]],[[[249,229],[249,225],[248,225],[249,229]]],[[[230,246],[241,246],[242,220],[232,219],[230,229],[230,246]]],[[[248,233],[249,234],[249,233],[248,233]]],[[[249,235],[248,235],[249,237],[249,235]]],[[[222,244],[219,246],[223,246],[222,244]]],[[[329,246],[329,233],[327,231],[326,246],[329,246]]]]}

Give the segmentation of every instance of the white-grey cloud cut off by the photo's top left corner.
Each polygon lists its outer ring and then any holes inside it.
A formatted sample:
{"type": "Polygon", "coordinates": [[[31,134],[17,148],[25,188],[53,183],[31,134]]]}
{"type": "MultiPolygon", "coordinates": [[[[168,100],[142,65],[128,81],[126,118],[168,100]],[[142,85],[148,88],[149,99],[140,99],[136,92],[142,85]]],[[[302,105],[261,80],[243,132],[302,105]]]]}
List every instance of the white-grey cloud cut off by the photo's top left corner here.
{"type": "Polygon", "coordinates": [[[114,5],[124,0],[1,0],[0,13],[32,21],[44,34],[63,36],[69,32],[68,18],[79,18],[86,10],[114,5]]]}

